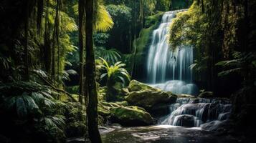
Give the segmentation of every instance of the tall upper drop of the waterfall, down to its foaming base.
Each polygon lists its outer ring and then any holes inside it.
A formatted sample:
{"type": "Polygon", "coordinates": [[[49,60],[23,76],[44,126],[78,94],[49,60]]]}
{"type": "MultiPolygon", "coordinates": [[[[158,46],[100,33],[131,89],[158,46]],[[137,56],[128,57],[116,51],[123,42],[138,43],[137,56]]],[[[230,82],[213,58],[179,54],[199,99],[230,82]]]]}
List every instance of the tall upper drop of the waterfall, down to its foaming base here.
{"type": "Polygon", "coordinates": [[[158,29],[153,31],[148,52],[148,82],[153,87],[176,94],[198,94],[196,84],[192,84],[193,48],[180,46],[172,51],[168,44],[168,32],[171,21],[180,11],[163,14],[158,29]],[[160,83],[160,84],[159,84],[160,83]]]}

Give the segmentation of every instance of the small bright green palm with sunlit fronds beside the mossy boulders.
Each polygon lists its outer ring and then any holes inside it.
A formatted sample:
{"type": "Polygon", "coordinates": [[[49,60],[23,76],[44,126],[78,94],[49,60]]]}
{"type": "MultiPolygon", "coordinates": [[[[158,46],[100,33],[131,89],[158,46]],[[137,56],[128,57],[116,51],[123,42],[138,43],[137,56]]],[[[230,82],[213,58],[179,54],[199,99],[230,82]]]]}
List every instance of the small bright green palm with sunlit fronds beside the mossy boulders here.
{"type": "Polygon", "coordinates": [[[113,85],[115,84],[115,82],[121,82],[124,85],[127,81],[130,81],[131,77],[128,74],[128,71],[126,71],[126,69],[123,68],[125,64],[122,64],[121,61],[118,61],[114,65],[109,66],[108,62],[105,61],[105,59],[100,59],[103,60],[103,67],[106,71],[104,74],[100,76],[100,79],[107,77],[107,101],[109,101],[115,99],[115,97],[113,97],[112,95],[113,85]]]}

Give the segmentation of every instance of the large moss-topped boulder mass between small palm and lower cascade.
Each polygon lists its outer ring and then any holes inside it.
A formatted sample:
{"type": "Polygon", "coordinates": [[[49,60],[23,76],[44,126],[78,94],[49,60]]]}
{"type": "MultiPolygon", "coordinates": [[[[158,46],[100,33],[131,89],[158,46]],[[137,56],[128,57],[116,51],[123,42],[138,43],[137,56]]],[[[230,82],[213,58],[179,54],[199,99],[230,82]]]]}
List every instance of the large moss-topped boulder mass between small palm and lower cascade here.
{"type": "Polygon", "coordinates": [[[128,104],[143,107],[153,116],[168,114],[169,104],[176,102],[177,99],[171,92],[163,92],[136,80],[130,82],[128,90],[128,96],[125,97],[128,104]]]}

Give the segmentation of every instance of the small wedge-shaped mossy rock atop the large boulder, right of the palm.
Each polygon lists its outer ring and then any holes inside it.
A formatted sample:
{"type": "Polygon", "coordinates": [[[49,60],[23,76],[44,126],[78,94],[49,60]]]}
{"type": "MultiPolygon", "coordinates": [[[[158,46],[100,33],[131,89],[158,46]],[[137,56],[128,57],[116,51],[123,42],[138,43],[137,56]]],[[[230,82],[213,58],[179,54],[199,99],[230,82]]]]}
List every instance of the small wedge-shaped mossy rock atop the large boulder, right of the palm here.
{"type": "MultiPolygon", "coordinates": [[[[153,88],[147,84],[143,84],[136,80],[132,80],[128,86],[129,92],[139,92],[141,90],[161,91],[160,89],[153,88]]],[[[131,94],[131,93],[130,93],[131,94]]]]}

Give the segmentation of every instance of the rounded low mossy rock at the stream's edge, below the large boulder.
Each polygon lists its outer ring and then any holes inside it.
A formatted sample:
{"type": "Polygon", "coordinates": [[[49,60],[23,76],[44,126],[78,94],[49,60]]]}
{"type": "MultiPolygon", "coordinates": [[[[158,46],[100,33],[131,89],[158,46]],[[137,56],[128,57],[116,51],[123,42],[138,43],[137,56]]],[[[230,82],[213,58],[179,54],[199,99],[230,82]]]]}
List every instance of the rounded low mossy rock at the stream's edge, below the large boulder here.
{"type": "Polygon", "coordinates": [[[154,123],[151,114],[136,106],[113,107],[110,109],[111,121],[125,127],[147,126],[154,123]]]}

